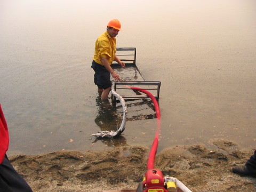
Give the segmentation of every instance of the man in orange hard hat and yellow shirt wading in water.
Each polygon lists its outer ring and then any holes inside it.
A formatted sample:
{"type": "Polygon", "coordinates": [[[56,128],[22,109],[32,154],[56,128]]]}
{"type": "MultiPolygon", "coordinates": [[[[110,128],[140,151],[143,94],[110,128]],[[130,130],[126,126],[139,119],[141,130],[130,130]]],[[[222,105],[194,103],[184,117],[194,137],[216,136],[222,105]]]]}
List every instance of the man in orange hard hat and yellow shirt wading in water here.
{"type": "Polygon", "coordinates": [[[121,23],[117,19],[109,21],[107,31],[99,36],[95,42],[92,68],[95,71],[94,83],[101,93],[101,100],[108,99],[112,86],[110,74],[116,81],[121,81],[119,75],[111,67],[112,62],[116,61],[125,67],[124,62],[116,57],[116,36],[119,30],[121,30],[121,23]]]}

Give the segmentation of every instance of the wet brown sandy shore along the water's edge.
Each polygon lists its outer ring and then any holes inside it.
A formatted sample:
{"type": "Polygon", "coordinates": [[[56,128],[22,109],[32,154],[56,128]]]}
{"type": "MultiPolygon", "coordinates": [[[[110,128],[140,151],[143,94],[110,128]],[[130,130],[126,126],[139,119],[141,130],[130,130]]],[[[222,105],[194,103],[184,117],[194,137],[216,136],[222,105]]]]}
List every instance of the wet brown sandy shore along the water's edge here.
{"type": "MultiPolygon", "coordinates": [[[[231,167],[243,164],[254,149],[213,140],[204,145],[175,146],[156,155],[155,169],[179,179],[191,191],[255,191],[256,178],[241,177],[231,167]]],[[[34,191],[103,191],[136,189],[147,169],[149,149],[140,146],[103,151],[56,151],[14,155],[10,161],[34,191]]]]}

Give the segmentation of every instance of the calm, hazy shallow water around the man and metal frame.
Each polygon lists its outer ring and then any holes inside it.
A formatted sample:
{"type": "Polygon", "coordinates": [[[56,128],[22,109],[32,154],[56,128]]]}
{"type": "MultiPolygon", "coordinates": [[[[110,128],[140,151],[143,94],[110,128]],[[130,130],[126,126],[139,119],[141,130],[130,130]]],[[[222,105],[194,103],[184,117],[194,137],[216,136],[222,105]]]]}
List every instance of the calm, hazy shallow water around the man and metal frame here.
{"type": "MultiPolygon", "coordinates": [[[[118,18],[117,47],[136,47],[146,81],[161,81],[158,151],[227,139],[255,148],[256,3],[226,1],[1,1],[0,102],[9,125],[9,154],[150,147],[153,106],[127,102],[102,111],[90,68],[95,39],[118,18]],[[111,11],[113,10],[113,11],[111,11]],[[102,125],[103,124],[103,125],[102,125]],[[103,127],[103,128],[102,128],[103,127]]],[[[122,78],[125,79],[125,69],[122,78]]]]}

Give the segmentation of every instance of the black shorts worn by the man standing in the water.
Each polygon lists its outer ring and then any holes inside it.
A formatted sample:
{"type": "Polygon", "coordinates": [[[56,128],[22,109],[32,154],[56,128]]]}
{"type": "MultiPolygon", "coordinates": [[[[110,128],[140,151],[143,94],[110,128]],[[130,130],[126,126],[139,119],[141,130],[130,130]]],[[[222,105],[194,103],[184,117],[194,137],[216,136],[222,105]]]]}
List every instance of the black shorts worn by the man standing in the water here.
{"type": "Polygon", "coordinates": [[[95,71],[94,83],[99,87],[99,89],[107,89],[108,87],[112,86],[112,82],[110,81],[110,73],[104,66],[93,60],[92,68],[95,71]]]}

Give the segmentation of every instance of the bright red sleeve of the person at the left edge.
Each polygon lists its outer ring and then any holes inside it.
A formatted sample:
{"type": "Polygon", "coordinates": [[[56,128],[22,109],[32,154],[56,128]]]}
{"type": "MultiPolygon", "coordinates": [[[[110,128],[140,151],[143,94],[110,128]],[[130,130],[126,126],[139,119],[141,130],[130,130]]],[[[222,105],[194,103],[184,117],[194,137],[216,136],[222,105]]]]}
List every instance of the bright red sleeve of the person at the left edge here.
{"type": "Polygon", "coordinates": [[[6,151],[9,146],[9,133],[4,113],[0,104],[0,164],[3,162],[6,151]]]}

